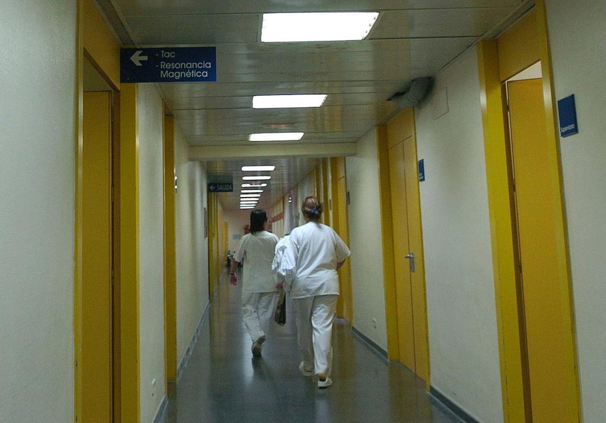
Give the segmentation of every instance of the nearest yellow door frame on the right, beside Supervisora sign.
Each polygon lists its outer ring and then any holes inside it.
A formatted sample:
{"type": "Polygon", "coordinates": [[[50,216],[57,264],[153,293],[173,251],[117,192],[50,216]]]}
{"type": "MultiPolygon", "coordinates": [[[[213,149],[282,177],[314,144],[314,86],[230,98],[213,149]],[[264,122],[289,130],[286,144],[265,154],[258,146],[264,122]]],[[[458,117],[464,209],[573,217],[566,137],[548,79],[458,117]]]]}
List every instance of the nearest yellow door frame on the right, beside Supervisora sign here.
{"type": "Polygon", "coordinates": [[[516,270],[518,252],[514,226],[513,181],[510,176],[507,104],[502,84],[538,61],[541,61],[543,75],[550,185],[553,192],[559,193],[556,195],[556,204],[553,205],[556,210],[554,232],[558,245],[559,275],[558,280],[554,281],[554,286],[561,293],[560,306],[564,314],[566,348],[562,354],[570,364],[568,378],[574,385],[574,389],[570,391],[570,396],[573,397],[570,402],[576,404],[573,414],[577,416],[577,421],[581,421],[559,132],[556,125],[556,99],[553,96],[553,72],[544,0],[537,0],[534,10],[499,39],[483,40],[478,45],[503,414],[507,422],[531,421],[530,391],[525,363],[523,293],[516,270]]]}

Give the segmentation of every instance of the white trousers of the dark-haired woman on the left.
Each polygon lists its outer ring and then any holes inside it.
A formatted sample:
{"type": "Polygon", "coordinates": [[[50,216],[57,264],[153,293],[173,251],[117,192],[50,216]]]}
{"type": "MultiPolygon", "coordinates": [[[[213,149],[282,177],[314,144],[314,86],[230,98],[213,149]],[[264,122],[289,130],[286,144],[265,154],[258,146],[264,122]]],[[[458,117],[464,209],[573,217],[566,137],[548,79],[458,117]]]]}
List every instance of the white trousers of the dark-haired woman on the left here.
{"type": "Polygon", "coordinates": [[[277,297],[277,291],[242,293],[242,317],[253,342],[267,332],[277,297]]]}

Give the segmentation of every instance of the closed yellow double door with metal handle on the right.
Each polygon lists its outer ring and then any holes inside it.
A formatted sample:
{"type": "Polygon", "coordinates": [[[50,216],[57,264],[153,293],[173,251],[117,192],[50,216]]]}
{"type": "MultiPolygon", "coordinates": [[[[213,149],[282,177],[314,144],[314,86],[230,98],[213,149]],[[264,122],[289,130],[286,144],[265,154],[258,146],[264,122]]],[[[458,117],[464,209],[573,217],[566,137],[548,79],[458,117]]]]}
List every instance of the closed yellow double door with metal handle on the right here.
{"type": "Polygon", "coordinates": [[[404,110],[387,125],[399,360],[429,382],[427,301],[415,116],[404,110]]]}

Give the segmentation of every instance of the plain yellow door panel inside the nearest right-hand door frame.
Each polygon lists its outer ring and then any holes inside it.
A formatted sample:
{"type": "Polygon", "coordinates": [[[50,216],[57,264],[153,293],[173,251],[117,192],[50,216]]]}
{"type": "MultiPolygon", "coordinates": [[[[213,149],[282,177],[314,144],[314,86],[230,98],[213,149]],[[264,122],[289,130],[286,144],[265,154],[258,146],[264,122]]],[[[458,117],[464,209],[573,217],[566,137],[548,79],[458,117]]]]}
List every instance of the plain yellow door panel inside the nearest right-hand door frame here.
{"type": "Polygon", "coordinates": [[[542,79],[508,82],[511,148],[522,268],[524,318],[534,422],[577,421],[576,373],[567,293],[558,289],[542,79]]]}

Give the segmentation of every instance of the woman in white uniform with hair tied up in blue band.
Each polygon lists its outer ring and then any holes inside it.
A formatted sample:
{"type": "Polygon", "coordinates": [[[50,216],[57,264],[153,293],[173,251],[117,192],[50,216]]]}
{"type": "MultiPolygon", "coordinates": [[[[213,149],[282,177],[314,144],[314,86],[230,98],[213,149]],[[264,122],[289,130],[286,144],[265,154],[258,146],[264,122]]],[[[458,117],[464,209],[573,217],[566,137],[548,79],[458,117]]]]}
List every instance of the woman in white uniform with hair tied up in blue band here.
{"type": "Polygon", "coordinates": [[[301,211],[305,224],[293,229],[290,248],[296,263],[290,288],[295,305],[297,340],[301,351],[299,370],[318,376],[318,387],[332,384],[332,334],[339,296],[337,269],[350,255],[349,248],[329,226],[319,223],[322,204],[307,197],[301,211]]]}

